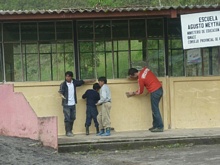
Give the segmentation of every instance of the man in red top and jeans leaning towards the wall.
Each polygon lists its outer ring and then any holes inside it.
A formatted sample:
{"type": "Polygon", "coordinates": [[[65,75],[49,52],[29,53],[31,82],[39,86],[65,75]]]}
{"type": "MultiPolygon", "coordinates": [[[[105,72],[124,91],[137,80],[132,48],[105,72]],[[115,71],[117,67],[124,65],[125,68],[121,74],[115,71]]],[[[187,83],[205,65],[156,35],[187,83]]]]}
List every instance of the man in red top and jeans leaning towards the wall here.
{"type": "Polygon", "coordinates": [[[160,81],[157,77],[151,72],[148,68],[143,68],[141,71],[138,71],[135,68],[130,68],[128,70],[128,75],[130,78],[137,79],[139,89],[135,92],[126,92],[127,97],[140,95],[144,91],[144,87],[151,94],[151,109],[153,116],[153,127],[149,130],[151,132],[163,132],[163,121],[161,118],[160,110],[159,110],[159,102],[163,95],[163,89],[160,81]]]}

